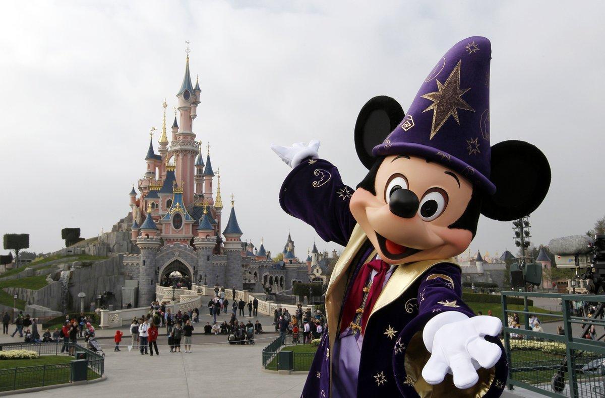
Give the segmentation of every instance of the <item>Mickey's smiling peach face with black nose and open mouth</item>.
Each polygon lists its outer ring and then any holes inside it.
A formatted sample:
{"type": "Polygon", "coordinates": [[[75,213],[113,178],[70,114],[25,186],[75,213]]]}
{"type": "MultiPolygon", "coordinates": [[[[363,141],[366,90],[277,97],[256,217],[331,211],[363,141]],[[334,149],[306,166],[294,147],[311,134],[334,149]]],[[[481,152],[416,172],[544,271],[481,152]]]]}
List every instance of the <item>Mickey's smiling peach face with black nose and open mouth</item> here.
{"type": "Polygon", "coordinates": [[[462,176],[424,158],[391,155],[379,167],[374,188],[375,196],[358,188],[350,208],[385,262],[448,258],[468,248],[471,231],[448,228],[473,194],[462,176]]]}

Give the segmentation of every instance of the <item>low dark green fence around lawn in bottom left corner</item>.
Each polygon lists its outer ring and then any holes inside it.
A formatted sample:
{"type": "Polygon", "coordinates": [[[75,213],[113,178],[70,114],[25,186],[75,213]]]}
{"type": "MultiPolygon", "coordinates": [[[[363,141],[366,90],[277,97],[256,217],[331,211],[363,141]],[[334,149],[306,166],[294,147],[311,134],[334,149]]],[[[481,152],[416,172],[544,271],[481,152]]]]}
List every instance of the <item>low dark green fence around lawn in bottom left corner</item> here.
{"type": "MultiPolygon", "coordinates": [[[[0,344],[0,350],[30,350],[39,355],[61,355],[63,342],[0,344]]],[[[74,355],[84,353],[88,361],[87,380],[98,379],[105,370],[105,358],[79,344],[70,343],[74,355]]],[[[21,390],[22,388],[44,387],[67,384],[72,380],[71,363],[49,364],[0,370],[0,391],[21,390]]]]}

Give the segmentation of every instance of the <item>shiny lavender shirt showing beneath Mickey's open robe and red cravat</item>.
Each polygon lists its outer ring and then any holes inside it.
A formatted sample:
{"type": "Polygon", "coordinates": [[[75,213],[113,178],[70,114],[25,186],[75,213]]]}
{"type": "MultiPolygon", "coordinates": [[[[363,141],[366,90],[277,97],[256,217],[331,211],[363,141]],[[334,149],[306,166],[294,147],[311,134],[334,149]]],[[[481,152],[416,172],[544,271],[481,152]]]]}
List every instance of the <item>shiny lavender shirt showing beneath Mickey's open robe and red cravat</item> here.
{"type": "MultiPolygon", "coordinates": [[[[380,258],[376,256],[376,258],[380,258]]],[[[382,287],[393,275],[396,266],[391,265],[385,274],[382,287]]],[[[370,277],[373,279],[378,271],[372,271],[370,277]]],[[[337,338],[332,350],[332,397],[347,398],[357,396],[357,381],[359,374],[359,360],[361,359],[361,347],[364,337],[361,333],[353,333],[347,327],[337,338]]]]}

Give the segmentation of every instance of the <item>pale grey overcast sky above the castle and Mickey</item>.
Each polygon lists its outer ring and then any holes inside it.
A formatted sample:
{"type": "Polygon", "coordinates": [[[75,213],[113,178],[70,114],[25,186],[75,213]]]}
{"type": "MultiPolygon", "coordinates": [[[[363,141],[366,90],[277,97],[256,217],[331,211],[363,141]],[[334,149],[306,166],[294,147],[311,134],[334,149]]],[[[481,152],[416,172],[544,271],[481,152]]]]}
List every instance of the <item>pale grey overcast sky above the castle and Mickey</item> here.
{"type": "MultiPolygon", "coordinates": [[[[275,254],[290,230],[300,257],[318,238],[281,210],[289,169],[270,144],[320,140],[319,155],[354,187],[365,175],[353,144],[365,101],[385,94],[407,109],[445,51],[476,35],[492,43],[492,145],[529,141],[551,162],[532,242],[583,234],[605,214],[605,7],[562,5],[7,2],[0,234],[29,233],[31,250],[54,251],[64,245],[61,228],[96,236],[128,213],[149,129],[162,125],[164,98],[169,110],[176,104],[189,40],[201,87],[194,132],[212,146],[226,213],[234,193],[242,239],[258,246],[264,237],[275,254]]],[[[513,249],[511,236],[511,223],[482,217],[471,251],[513,249]]],[[[321,239],[318,248],[340,249],[321,239]]]]}

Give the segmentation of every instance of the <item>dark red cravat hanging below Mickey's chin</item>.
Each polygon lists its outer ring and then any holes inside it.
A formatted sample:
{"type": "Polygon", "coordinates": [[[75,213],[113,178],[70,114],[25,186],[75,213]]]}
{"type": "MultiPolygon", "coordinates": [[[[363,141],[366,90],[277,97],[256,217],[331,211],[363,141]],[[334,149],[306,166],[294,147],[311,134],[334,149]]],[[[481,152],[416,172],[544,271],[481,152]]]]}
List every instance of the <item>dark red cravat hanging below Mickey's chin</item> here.
{"type": "Polygon", "coordinates": [[[377,274],[374,275],[374,278],[372,280],[370,293],[368,294],[368,298],[365,301],[365,306],[361,316],[361,334],[364,334],[365,324],[367,323],[368,318],[370,317],[370,313],[372,311],[372,308],[374,307],[374,303],[376,303],[378,296],[382,292],[382,284],[384,284],[384,279],[387,275],[387,271],[389,268],[390,265],[380,259],[372,260],[371,262],[364,264],[361,271],[359,271],[357,278],[355,278],[353,287],[351,288],[351,291],[348,295],[348,300],[344,305],[341,321],[341,333],[344,332],[344,330],[347,329],[350,323],[355,319],[357,311],[359,308],[361,308],[362,300],[364,298],[365,284],[367,283],[371,272],[377,271],[377,274]]]}

